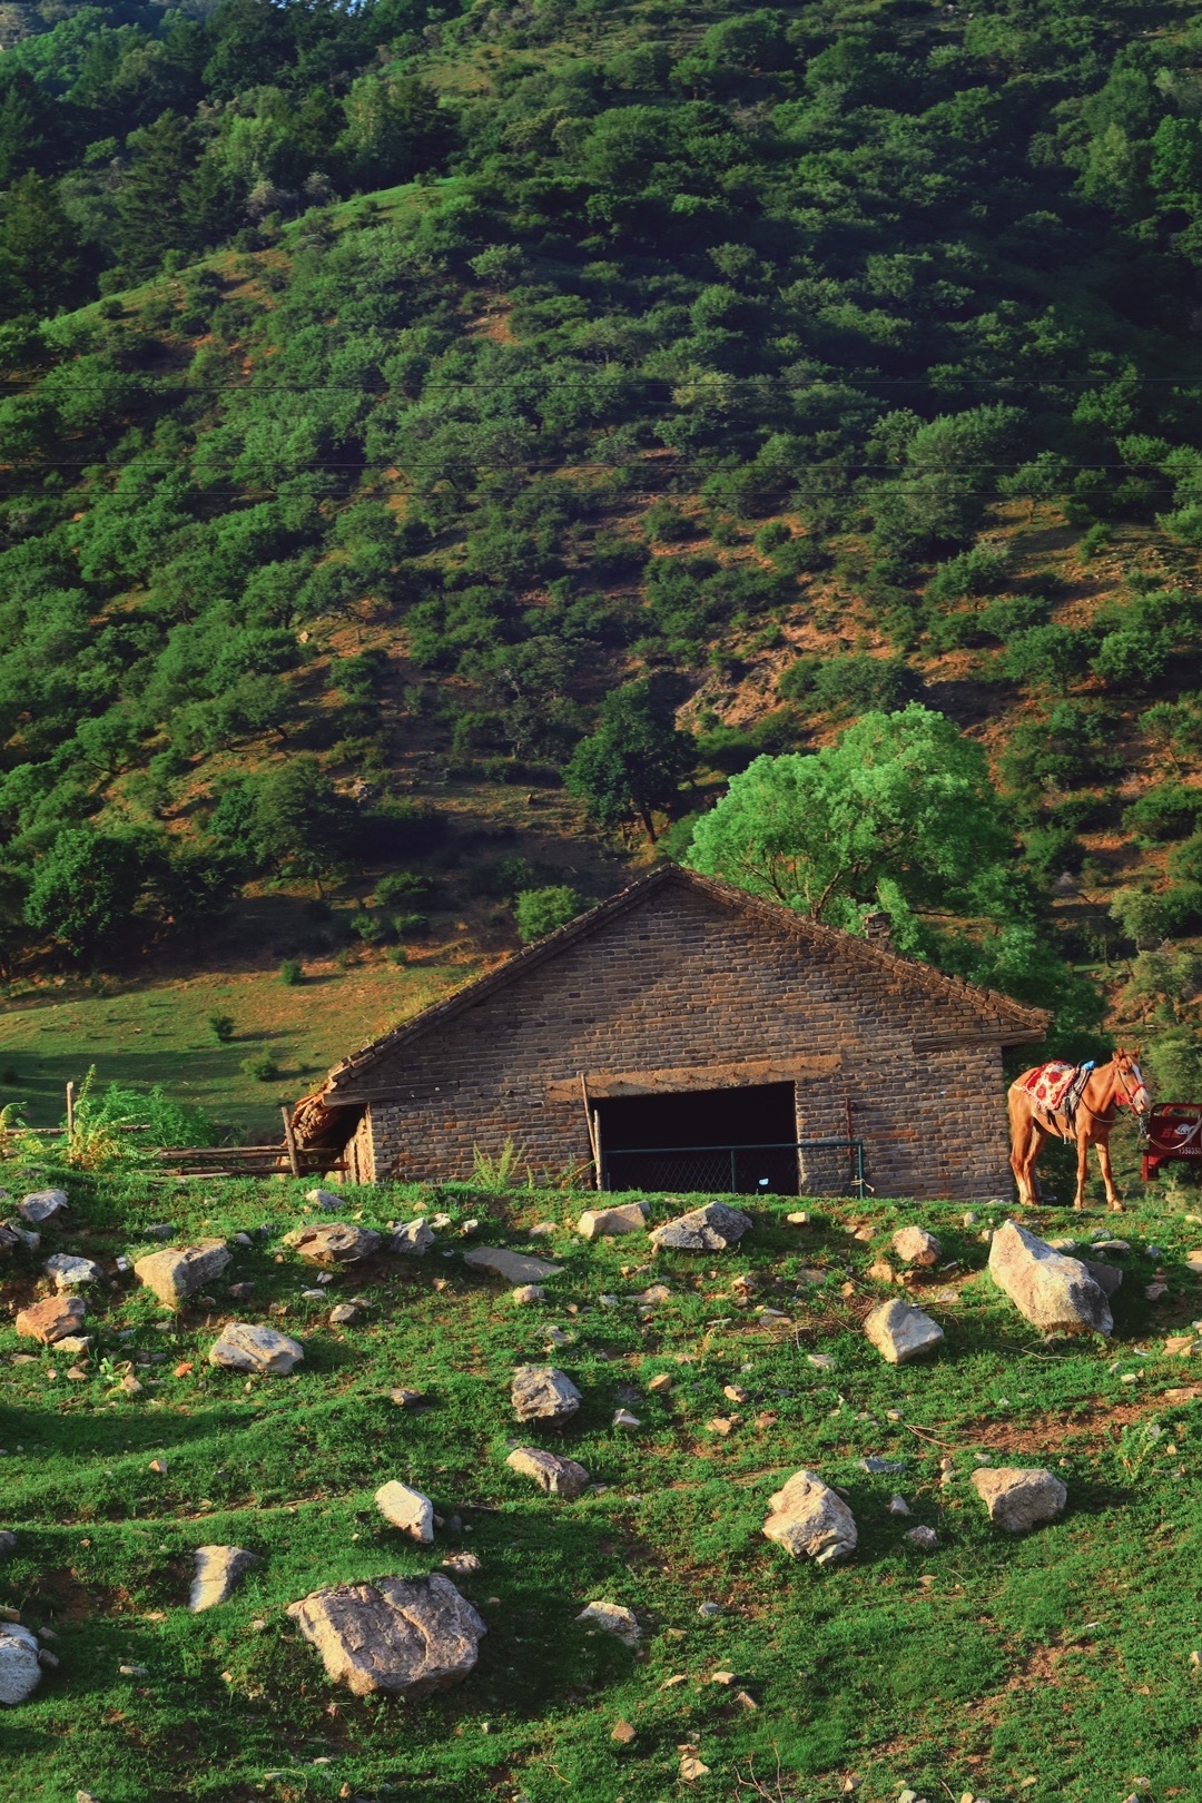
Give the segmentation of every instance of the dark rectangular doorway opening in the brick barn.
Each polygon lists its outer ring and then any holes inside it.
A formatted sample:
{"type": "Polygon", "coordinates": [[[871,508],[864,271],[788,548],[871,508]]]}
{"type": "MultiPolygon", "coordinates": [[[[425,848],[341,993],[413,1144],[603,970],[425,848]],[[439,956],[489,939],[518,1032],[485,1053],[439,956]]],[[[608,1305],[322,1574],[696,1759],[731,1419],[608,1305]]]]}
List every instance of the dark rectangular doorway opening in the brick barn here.
{"type": "Polygon", "coordinates": [[[797,1195],[793,1084],[596,1102],[604,1188],[797,1195]]]}

